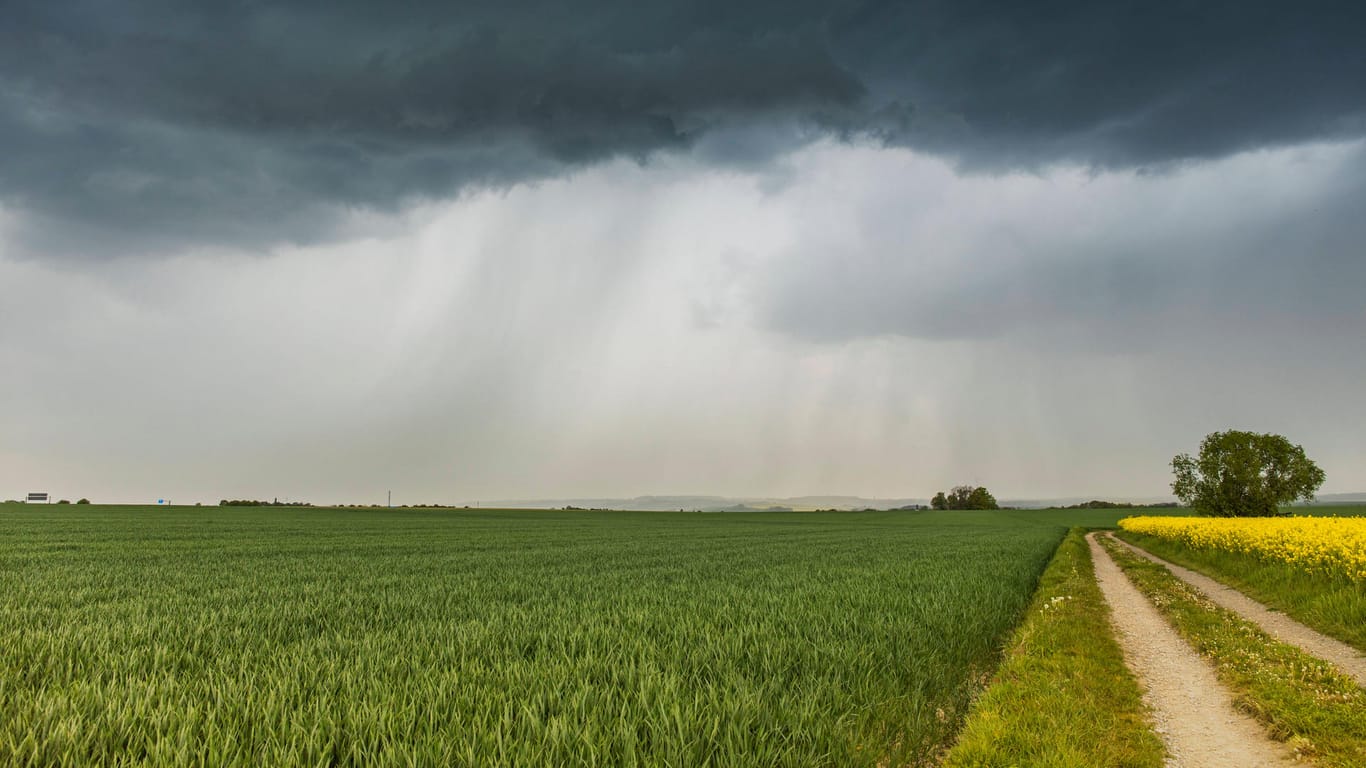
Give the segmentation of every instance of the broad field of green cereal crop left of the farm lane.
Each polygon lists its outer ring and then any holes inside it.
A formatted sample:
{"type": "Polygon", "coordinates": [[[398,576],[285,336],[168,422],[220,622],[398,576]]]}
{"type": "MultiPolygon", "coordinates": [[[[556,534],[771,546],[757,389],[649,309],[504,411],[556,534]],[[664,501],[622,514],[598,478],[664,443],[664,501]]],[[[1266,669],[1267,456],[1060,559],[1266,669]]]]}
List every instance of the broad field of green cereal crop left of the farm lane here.
{"type": "Polygon", "coordinates": [[[1007,512],[7,507],[0,763],[923,763],[1063,533],[1007,512]]]}

